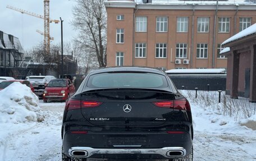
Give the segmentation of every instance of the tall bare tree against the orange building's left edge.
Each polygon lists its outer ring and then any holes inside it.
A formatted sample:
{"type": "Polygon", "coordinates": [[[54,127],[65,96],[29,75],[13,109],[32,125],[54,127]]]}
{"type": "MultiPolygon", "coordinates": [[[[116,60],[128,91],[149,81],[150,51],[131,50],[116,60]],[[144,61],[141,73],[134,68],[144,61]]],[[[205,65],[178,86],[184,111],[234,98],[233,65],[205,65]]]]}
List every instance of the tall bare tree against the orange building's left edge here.
{"type": "Polygon", "coordinates": [[[107,14],[104,0],[76,0],[72,25],[79,31],[76,42],[94,53],[99,67],[106,66],[107,14]]]}

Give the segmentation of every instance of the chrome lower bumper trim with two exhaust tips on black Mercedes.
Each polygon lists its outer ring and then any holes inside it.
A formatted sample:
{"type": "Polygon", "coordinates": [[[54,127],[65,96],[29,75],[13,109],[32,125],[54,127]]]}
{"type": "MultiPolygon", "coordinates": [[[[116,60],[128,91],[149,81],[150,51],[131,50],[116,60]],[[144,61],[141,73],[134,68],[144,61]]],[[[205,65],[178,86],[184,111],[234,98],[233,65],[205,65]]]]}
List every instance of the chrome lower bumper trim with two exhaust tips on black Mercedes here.
{"type": "Polygon", "coordinates": [[[90,147],[72,147],[68,150],[71,157],[88,158],[98,154],[152,154],[165,158],[185,157],[186,149],[182,147],[164,147],[158,149],[98,149],[90,147]]]}

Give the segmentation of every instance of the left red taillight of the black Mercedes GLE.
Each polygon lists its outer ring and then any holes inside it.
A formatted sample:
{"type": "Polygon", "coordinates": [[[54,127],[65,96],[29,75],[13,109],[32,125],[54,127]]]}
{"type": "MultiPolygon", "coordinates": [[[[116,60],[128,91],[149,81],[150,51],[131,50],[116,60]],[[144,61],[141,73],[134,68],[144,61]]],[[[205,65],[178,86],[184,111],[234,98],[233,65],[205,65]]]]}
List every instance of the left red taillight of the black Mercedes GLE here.
{"type": "Polygon", "coordinates": [[[98,107],[101,102],[95,102],[95,101],[87,101],[87,100],[77,100],[77,99],[69,99],[66,103],[65,110],[72,110],[72,109],[80,109],[80,108],[92,108],[92,107],[98,107]]]}

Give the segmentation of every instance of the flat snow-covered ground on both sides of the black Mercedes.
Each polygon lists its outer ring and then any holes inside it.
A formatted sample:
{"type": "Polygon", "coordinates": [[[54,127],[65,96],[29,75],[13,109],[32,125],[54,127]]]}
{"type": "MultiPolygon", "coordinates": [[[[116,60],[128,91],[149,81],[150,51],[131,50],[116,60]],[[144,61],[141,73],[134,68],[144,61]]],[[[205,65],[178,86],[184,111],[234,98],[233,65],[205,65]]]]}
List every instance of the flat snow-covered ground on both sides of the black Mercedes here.
{"type": "MultiPolygon", "coordinates": [[[[1,99],[1,103],[6,100],[1,99]]],[[[194,161],[256,160],[256,130],[191,102],[194,119],[194,161]]],[[[256,104],[255,104],[256,105],[256,104]]],[[[61,160],[61,123],[65,103],[39,102],[43,121],[0,122],[0,160],[61,160]]],[[[3,116],[0,110],[0,116],[3,116]]],[[[3,120],[3,118],[2,118],[3,120]]]]}

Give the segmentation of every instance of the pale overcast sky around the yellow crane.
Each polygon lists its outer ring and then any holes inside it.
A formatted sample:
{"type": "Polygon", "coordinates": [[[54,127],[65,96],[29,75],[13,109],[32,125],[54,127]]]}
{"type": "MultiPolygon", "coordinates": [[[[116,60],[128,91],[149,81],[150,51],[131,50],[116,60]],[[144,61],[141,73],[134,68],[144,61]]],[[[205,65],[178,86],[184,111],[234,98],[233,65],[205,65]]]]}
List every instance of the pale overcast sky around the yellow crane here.
{"type": "MultiPolygon", "coordinates": [[[[37,17],[22,14],[6,8],[6,6],[21,8],[43,15],[44,0],[0,0],[0,30],[20,39],[24,49],[30,49],[43,41],[43,35],[36,30],[44,31],[44,21],[37,17]]],[[[50,0],[50,19],[63,21],[63,41],[71,40],[76,33],[71,25],[74,0],[50,0]]],[[[50,24],[50,35],[54,44],[61,42],[61,23],[50,24]]]]}

